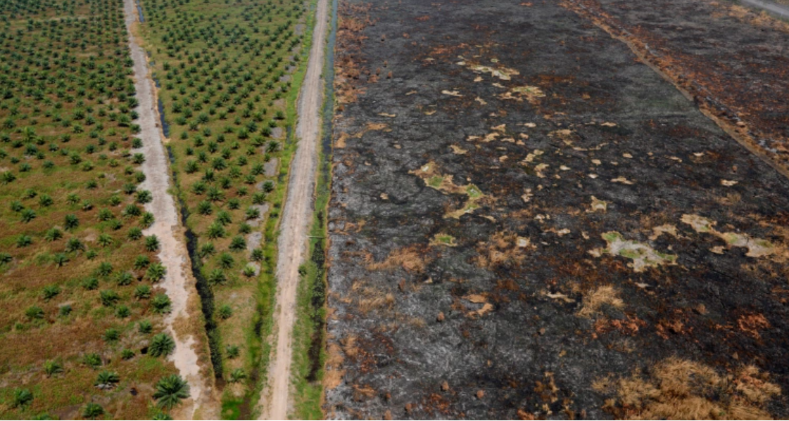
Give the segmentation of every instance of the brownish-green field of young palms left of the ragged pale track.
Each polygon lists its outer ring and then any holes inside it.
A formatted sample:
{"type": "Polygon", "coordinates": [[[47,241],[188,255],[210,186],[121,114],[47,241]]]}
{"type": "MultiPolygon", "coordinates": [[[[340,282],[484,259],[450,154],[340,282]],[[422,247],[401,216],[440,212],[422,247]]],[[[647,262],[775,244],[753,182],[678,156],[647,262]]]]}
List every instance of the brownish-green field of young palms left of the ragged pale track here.
{"type": "Polygon", "coordinates": [[[0,16],[0,413],[155,416],[177,371],[122,2],[0,16]]]}

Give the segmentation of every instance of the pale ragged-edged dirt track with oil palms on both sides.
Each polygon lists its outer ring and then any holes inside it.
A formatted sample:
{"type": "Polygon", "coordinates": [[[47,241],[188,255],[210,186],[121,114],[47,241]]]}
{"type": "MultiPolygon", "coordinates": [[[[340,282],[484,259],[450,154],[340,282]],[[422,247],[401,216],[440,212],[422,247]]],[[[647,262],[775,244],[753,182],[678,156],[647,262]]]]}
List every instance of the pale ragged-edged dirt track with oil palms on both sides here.
{"type": "MultiPolygon", "coordinates": [[[[132,35],[132,25],[137,21],[134,0],[124,0],[126,29],[129,31],[129,48],[134,61],[134,88],[136,97],[140,102],[136,111],[140,114],[137,124],[140,125],[140,139],[143,140],[142,152],[145,162],[141,170],[145,173],[145,181],[141,189],[149,190],[153,196],[151,203],[145,205],[146,210],[154,214],[155,222],[144,231],[145,235],[159,237],[159,259],[166,267],[167,273],[159,286],[166,290],[167,296],[172,301],[172,311],[167,315],[167,333],[175,341],[175,352],[170,356],[181,377],[189,382],[191,400],[185,402],[181,408],[180,417],[193,419],[196,409],[201,403],[208,401],[210,391],[200,375],[200,366],[197,354],[192,348],[195,339],[191,335],[179,335],[174,330],[178,319],[189,319],[187,303],[191,295],[196,294],[194,281],[187,278],[185,267],[189,266],[188,252],[181,239],[181,227],[178,220],[178,210],[173,197],[167,192],[170,187],[170,177],[167,170],[167,155],[162,145],[162,136],[157,126],[159,116],[155,109],[155,95],[151,79],[148,77],[148,63],[145,52],[137,45],[132,35]]],[[[196,316],[196,315],[195,315],[196,316]]]]}

